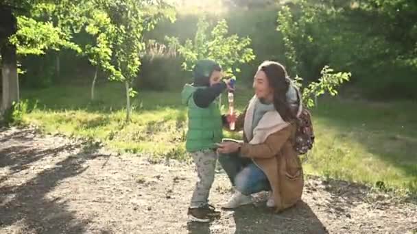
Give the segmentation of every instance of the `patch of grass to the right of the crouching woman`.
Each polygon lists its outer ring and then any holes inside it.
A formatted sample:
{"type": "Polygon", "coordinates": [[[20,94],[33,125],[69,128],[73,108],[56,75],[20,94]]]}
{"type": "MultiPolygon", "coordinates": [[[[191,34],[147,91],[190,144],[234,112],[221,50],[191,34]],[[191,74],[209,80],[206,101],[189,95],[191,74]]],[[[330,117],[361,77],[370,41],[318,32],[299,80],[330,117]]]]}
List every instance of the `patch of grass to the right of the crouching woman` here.
{"type": "Polygon", "coordinates": [[[307,172],[416,194],[415,103],[329,99],[314,110],[315,148],[307,172]]]}

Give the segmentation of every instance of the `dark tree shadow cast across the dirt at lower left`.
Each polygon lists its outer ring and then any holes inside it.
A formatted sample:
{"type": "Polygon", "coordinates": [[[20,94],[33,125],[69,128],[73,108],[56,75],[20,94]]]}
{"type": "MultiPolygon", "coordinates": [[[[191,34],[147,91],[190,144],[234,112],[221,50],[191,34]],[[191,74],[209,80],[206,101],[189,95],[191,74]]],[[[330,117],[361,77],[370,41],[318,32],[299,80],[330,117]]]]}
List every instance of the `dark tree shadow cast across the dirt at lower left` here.
{"type": "Polygon", "coordinates": [[[86,157],[84,153],[68,153],[58,163],[40,170],[32,179],[8,185],[5,182],[9,177],[31,170],[32,163],[74,148],[71,144],[55,148],[13,144],[15,140],[24,142],[25,138],[30,138],[28,135],[28,132],[0,135],[0,169],[8,167],[8,174],[0,178],[1,229],[7,233],[12,226],[19,226],[21,233],[84,233],[88,218],[75,218],[75,211],[68,209],[67,200],[48,198],[47,194],[62,180],[84,172],[88,167],[83,164],[100,155],[86,157]]]}

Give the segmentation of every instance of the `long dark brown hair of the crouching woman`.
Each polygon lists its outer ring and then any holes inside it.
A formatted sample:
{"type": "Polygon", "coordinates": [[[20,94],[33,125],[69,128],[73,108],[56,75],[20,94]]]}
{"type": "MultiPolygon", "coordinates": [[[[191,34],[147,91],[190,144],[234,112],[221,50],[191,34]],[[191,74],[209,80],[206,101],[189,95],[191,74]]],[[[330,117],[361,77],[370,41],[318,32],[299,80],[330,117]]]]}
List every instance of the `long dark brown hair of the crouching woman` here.
{"type": "Polygon", "coordinates": [[[274,107],[285,122],[294,120],[295,116],[287,103],[287,91],[291,80],[287,75],[285,67],[278,62],[265,61],[258,70],[262,70],[270,83],[270,88],[274,90],[274,107]]]}

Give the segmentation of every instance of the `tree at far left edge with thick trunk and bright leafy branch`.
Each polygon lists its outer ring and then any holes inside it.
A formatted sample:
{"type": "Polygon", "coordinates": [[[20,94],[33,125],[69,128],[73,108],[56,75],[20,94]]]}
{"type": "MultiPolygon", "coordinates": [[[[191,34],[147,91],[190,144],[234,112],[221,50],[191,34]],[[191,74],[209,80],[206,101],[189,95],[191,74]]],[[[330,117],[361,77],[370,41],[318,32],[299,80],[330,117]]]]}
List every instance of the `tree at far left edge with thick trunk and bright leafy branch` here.
{"type": "Polygon", "coordinates": [[[79,50],[69,36],[50,21],[40,22],[32,17],[32,10],[47,0],[3,0],[0,4],[0,47],[3,77],[2,111],[19,101],[17,55],[45,53],[46,49],[68,47],[79,50]]]}

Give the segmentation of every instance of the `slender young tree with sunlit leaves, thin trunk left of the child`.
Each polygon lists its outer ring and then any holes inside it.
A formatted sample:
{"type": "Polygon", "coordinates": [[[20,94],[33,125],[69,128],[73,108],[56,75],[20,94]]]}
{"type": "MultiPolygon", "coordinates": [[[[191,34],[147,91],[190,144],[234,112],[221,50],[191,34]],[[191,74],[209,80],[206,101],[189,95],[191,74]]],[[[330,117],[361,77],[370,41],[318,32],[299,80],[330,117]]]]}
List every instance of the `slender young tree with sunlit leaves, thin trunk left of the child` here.
{"type": "Polygon", "coordinates": [[[112,37],[110,79],[124,83],[126,88],[126,120],[130,120],[130,97],[137,94],[131,88],[139,73],[140,53],[145,49],[143,32],[152,29],[160,18],[174,21],[171,6],[164,1],[116,0],[104,3],[115,34],[112,37]]]}

